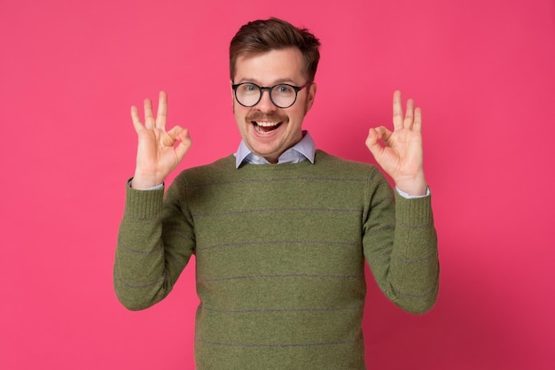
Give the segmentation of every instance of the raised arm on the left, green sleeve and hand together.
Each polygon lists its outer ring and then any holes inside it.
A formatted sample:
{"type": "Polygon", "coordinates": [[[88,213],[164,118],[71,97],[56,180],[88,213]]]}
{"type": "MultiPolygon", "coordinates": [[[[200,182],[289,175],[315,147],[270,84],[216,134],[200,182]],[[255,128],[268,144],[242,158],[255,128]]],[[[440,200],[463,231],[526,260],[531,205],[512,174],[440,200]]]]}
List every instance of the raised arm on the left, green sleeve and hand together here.
{"type": "Polygon", "coordinates": [[[145,309],[166,297],[194,249],[192,225],[183,217],[176,190],[172,193],[169,187],[166,205],[164,189],[143,191],[160,185],[191,147],[186,129],[177,126],[166,131],[167,102],[166,93],[160,92],[154,119],[152,103],[146,99],[145,124],[137,107],[131,108],[138,136],[137,168],[131,187],[126,188],[113,265],[116,296],[130,310],[145,309]],[[175,227],[168,231],[164,225],[175,227]],[[175,230],[179,230],[179,242],[174,242],[175,230]]]}

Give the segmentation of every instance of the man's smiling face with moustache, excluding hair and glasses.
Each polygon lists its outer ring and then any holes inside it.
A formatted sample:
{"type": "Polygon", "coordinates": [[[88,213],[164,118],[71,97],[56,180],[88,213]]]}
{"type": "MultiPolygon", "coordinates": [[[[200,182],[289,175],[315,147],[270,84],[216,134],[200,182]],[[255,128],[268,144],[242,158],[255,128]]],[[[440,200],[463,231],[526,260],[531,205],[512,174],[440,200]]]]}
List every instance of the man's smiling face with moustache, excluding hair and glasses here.
{"type": "MultiPolygon", "coordinates": [[[[297,48],[270,50],[262,54],[239,57],[235,66],[235,81],[253,82],[258,86],[307,83],[302,73],[302,54],[297,48]]],[[[241,138],[248,149],[277,163],[277,158],[302,138],[302,119],[314,103],[316,84],[301,89],[296,102],[289,108],[277,108],[270,92],[263,90],[261,100],[252,107],[238,104],[233,96],[233,113],[241,138]]]]}

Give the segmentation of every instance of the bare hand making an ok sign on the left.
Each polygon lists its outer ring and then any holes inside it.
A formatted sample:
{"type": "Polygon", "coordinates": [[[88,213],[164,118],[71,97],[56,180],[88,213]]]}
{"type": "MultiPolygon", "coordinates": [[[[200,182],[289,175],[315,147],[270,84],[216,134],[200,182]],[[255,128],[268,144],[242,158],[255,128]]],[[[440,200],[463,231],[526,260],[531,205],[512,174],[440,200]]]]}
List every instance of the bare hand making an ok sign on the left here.
{"type": "Polygon", "coordinates": [[[164,91],[160,91],[156,119],[152,114],[151,100],[145,99],[145,125],[141,123],[137,107],[131,107],[131,119],[138,136],[133,189],[148,189],[163,183],[191,148],[192,141],[186,128],[176,126],[166,131],[167,116],[168,96],[164,91]]]}

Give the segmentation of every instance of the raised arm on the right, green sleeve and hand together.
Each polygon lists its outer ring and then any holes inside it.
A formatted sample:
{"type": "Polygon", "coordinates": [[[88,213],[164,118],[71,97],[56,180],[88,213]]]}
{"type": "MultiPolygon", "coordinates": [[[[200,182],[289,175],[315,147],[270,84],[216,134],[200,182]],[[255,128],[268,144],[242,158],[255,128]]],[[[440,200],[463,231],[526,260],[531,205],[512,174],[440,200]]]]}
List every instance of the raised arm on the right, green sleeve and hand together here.
{"type": "MultiPolygon", "coordinates": [[[[425,196],[422,112],[409,99],[403,116],[401,102],[401,92],[395,91],[394,131],[386,127],[371,128],[366,145],[379,166],[395,181],[397,189],[409,196],[425,196]]],[[[370,220],[379,219],[382,212],[387,212],[386,208],[386,202],[379,197],[371,206],[370,220]]],[[[376,237],[372,230],[364,236],[367,240],[364,254],[379,287],[404,310],[427,312],[437,299],[439,287],[437,235],[430,197],[406,199],[397,195],[393,243],[377,243],[376,237]]]]}

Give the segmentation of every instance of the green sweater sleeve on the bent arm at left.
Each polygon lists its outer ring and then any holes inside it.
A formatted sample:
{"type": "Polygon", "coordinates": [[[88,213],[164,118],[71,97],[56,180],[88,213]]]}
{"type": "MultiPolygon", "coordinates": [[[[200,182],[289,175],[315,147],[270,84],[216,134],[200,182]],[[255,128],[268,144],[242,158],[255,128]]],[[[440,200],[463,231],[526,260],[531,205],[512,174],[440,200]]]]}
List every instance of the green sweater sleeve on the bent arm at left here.
{"type": "Polygon", "coordinates": [[[192,256],[193,230],[182,211],[180,186],[174,182],[166,199],[163,189],[127,187],[113,286],[129,310],[148,308],[167,297],[192,256]]]}

